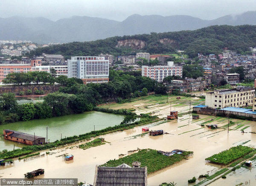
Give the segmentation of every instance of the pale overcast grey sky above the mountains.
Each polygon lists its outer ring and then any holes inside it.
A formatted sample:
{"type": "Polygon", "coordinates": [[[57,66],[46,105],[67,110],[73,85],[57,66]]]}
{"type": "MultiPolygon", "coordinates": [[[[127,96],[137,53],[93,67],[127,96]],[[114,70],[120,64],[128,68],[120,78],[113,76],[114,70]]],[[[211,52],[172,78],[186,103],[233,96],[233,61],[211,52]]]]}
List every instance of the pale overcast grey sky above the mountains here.
{"type": "Polygon", "coordinates": [[[256,0],[0,0],[0,17],[78,16],[122,21],[131,14],[190,15],[205,20],[256,11],[256,0]]]}

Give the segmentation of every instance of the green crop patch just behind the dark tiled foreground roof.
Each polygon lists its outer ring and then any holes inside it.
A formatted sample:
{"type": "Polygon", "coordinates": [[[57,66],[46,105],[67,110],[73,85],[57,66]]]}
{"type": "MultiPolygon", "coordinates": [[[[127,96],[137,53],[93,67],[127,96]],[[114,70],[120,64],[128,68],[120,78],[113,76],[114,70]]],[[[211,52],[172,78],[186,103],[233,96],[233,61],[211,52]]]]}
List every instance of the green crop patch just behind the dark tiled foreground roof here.
{"type": "Polygon", "coordinates": [[[171,166],[174,163],[177,163],[187,156],[192,154],[193,152],[183,152],[182,155],[174,154],[172,156],[165,156],[162,154],[157,154],[157,150],[153,149],[143,149],[137,153],[134,153],[129,156],[122,157],[118,160],[109,160],[107,163],[101,166],[110,166],[115,167],[119,166],[122,163],[126,163],[129,166],[132,166],[134,161],[138,161],[141,163],[141,167],[148,167],[148,174],[152,172],[156,172],[165,167],[171,166]]]}

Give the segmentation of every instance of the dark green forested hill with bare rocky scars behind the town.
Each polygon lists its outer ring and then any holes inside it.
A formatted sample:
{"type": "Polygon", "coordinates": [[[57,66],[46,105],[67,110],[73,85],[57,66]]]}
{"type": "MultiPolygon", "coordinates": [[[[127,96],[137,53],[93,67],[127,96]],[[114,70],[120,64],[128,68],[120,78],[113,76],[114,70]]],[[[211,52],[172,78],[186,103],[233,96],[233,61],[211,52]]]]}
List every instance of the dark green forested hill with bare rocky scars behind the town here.
{"type": "MultiPolygon", "coordinates": [[[[134,44],[134,43],[132,43],[134,44]]],[[[164,33],[139,34],[123,37],[109,37],[104,40],[90,42],[73,42],[62,45],[54,45],[44,48],[38,48],[26,54],[33,55],[62,54],[66,58],[70,56],[88,56],[108,53],[113,55],[130,54],[131,51],[143,51],[151,54],[175,52],[175,50],[184,50],[185,54],[194,58],[198,53],[219,54],[224,47],[230,50],[242,53],[249,51],[249,47],[256,45],[256,26],[209,26],[195,31],[175,31],[164,33]],[[134,41],[135,40],[135,41],[134,41]],[[127,41],[143,42],[145,46],[131,48],[129,45],[120,46],[118,43],[127,41]],[[119,46],[119,47],[117,47],[119,46]]],[[[130,45],[133,46],[133,45],[130,45]]]]}

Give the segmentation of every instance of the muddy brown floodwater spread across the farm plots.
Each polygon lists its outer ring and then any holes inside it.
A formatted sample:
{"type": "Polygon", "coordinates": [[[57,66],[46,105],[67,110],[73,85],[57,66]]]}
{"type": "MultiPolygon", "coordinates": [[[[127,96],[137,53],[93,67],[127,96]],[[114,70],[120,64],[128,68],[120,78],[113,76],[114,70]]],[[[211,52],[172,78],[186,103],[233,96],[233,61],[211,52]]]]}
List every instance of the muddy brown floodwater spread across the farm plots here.
{"type": "MultiPolygon", "coordinates": [[[[166,99],[166,97],[163,98],[166,99]]],[[[160,98],[153,100],[154,97],[151,97],[150,99],[136,100],[132,103],[113,104],[110,105],[110,108],[134,108],[137,114],[154,112],[159,117],[166,117],[169,114],[170,103],[160,104],[159,102],[163,102],[160,98]]],[[[147,125],[150,130],[163,129],[165,133],[163,135],[140,135],[142,134],[143,126],[106,134],[103,137],[109,143],[102,146],[82,150],[77,148],[78,144],[73,144],[53,149],[45,157],[30,161],[15,160],[13,164],[0,166],[0,177],[21,178],[24,173],[41,168],[45,169],[45,173],[40,177],[77,177],[79,182],[92,184],[96,165],[101,165],[111,159],[118,159],[123,155],[129,155],[133,150],[150,148],[170,152],[173,149],[182,149],[193,151],[194,155],[189,157],[188,160],[183,160],[148,175],[148,185],[158,186],[163,182],[175,182],[177,186],[188,186],[191,184],[188,184],[187,180],[192,179],[192,177],[198,178],[199,175],[204,174],[212,175],[224,167],[207,163],[205,158],[240,144],[255,147],[256,134],[251,132],[256,132],[256,122],[230,119],[233,124],[230,125],[228,133],[227,118],[199,115],[198,120],[192,120],[192,115],[186,114],[189,111],[189,102],[192,105],[197,102],[203,103],[204,100],[200,101],[198,98],[188,97],[182,97],[181,100],[177,101],[176,97],[171,97],[170,100],[172,100],[172,110],[178,111],[179,118],[166,123],[158,122],[147,125]],[[202,123],[204,125],[217,124],[219,128],[209,129],[206,126],[201,126],[202,123]],[[241,132],[242,129],[244,133],[241,132]],[[58,157],[63,154],[72,154],[74,159],[64,161],[62,157],[58,157]]],[[[45,152],[41,152],[41,154],[45,152]]],[[[210,183],[210,185],[235,186],[236,184],[243,183],[244,185],[254,186],[256,185],[254,167],[255,162],[253,162],[252,168],[242,167],[237,169],[235,172],[228,174],[225,180],[220,178],[210,183]]],[[[197,180],[196,183],[198,182],[197,180]]]]}

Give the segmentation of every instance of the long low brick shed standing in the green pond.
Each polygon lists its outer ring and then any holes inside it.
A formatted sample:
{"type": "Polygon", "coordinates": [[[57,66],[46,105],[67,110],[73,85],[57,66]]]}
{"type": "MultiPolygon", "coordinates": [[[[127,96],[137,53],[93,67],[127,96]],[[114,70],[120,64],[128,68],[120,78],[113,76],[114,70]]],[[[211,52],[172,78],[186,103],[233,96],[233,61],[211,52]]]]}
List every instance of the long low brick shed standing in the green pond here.
{"type": "Polygon", "coordinates": [[[35,145],[45,143],[45,137],[26,134],[13,130],[3,130],[4,139],[24,143],[27,145],[35,145]]]}

